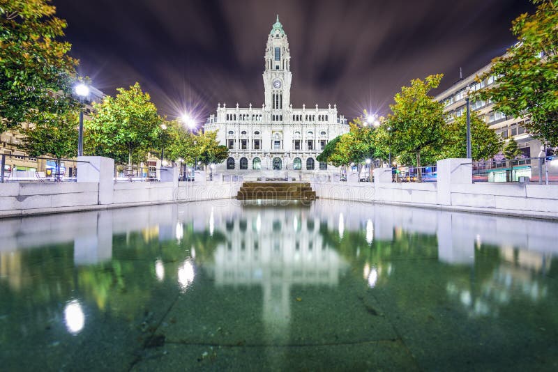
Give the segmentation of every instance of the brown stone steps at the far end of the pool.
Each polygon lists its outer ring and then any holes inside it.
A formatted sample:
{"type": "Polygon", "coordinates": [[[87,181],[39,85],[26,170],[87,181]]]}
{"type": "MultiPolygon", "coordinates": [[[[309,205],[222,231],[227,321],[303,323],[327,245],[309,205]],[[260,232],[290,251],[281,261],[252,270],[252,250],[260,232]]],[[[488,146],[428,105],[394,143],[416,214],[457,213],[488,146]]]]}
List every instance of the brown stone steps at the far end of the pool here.
{"type": "Polygon", "coordinates": [[[239,200],[316,200],[310,183],[243,183],[236,195],[239,200]]]}

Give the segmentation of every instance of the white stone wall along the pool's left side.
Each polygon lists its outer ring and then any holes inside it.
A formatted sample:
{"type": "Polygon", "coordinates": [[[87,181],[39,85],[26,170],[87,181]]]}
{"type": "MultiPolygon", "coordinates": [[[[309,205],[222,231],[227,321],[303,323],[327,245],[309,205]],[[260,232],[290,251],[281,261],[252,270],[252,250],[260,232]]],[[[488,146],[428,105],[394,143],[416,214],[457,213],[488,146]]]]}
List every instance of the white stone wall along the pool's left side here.
{"type": "Polygon", "coordinates": [[[80,157],[79,160],[76,183],[36,182],[0,185],[0,218],[229,199],[236,196],[241,186],[238,182],[223,182],[220,179],[206,181],[203,172],[196,175],[196,182],[179,183],[177,167],[163,169],[162,182],[115,183],[112,159],[80,157]]]}

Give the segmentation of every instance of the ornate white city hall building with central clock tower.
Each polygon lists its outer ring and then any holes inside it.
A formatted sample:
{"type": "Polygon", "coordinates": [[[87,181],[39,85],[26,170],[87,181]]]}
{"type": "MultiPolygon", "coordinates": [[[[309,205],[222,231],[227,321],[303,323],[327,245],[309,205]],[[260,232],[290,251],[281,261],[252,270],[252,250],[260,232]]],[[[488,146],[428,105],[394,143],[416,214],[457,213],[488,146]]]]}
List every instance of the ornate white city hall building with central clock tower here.
{"type": "MultiPolygon", "coordinates": [[[[277,22],[267,38],[264,56],[264,103],[240,108],[218,104],[217,114],[207,119],[204,130],[218,131],[229,158],[218,171],[325,171],[317,155],[331,139],[349,132],[337,106],[294,109],[291,98],[291,56],[287,35],[277,22]]],[[[329,170],[334,168],[329,166],[329,170]]]]}

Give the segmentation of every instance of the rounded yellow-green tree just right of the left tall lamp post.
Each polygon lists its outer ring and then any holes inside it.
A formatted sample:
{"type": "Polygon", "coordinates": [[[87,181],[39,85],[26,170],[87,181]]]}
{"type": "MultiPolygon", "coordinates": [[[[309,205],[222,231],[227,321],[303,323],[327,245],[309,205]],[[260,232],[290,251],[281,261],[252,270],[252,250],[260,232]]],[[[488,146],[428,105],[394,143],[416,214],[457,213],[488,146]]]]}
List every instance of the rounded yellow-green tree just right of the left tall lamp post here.
{"type": "Polygon", "coordinates": [[[93,118],[86,123],[89,141],[96,151],[94,155],[105,155],[122,161],[128,156],[144,158],[158,144],[160,124],[163,119],[157,114],[149,93],[144,93],[139,83],[116,89],[116,97],[107,96],[93,104],[93,118]]]}

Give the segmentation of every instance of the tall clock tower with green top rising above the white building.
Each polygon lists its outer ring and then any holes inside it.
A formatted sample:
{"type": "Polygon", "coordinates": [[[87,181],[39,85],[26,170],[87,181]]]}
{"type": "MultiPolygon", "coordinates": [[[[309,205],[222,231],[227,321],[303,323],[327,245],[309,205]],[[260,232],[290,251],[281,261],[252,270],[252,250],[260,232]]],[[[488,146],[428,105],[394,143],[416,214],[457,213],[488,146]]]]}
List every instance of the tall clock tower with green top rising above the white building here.
{"type": "Polygon", "coordinates": [[[273,111],[287,109],[291,101],[291,56],[287,34],[279,22],[273,24],[267,37],[264,89],[266,109],[273,111]]]}

